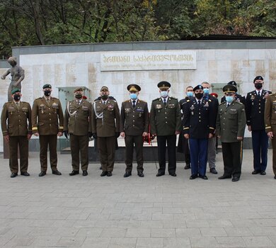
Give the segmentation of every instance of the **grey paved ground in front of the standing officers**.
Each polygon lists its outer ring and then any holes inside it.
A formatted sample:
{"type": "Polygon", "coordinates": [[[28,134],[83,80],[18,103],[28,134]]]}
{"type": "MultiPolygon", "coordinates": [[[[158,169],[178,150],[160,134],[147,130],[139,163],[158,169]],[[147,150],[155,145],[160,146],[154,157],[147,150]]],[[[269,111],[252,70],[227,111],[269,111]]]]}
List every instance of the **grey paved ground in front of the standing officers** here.
{"type": "Polygon", "coordinates": [[[276,247],[276,180],[272,152],[268,174],[251,175],[252,152],[245,150],[241,181],[218,175],[189,180],[156,178],[155,164],[145,177],[124,164],[111,177],[100,177],[98,164],[88,176],[69,176],[70,155],[59,155],[62,176],[40,178],[39,154],[30,154],[30,177],[11,179],[8,160],[0,159],[0,247],[276,247]]]}

